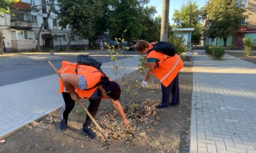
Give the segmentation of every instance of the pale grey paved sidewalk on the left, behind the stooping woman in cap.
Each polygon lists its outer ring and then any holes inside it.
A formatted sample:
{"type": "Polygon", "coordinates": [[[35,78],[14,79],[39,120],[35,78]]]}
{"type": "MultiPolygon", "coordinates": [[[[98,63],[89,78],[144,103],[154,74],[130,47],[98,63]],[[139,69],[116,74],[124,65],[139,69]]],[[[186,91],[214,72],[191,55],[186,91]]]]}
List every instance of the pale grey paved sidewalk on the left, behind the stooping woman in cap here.
{"type": "MultiPolygon", "coordinates": [[[[138,60],[139,56],[123,60],[126,73],[138,69],[138,60]]],[[[114,80],[116,77],[109,69],[112,65],[112,62],[103,63],[102,70],[114,80]]],[[[57,94],[57,80],[53,74],[0,87],[0,138],[63,105],[61,94],[57,94]]]]}

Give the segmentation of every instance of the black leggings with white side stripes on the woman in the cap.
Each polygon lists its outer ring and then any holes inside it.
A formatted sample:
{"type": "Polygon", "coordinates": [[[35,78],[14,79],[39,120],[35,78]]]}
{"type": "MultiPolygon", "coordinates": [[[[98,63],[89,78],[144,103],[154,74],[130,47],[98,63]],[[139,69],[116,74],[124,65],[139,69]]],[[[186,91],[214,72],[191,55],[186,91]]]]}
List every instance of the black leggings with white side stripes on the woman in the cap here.
{"type": "MultiPolygon", "coordinates": [[[[64,99],[65,104],[63,105],[63,107],[61,107],[61,119],[64,120],[68,120],[68,114],[72,111],[72,109],[75,107],[75,101],[71,98],[71,95],[68,92],[62,92],[62,96],[64,99]]],[[[90,104],[88,107],[88,111],[89,113],[92,115],[92,117],[94,118],[94,116],[96,115],[97,111],[98,111],[98,106],[101,103],[101,99],[89,99],[90,104]]],[[[90,117],[88,115],[86,115],[86,119],[85,119],[85,123],[90,126],[92,124],[92,120],[90,120],[90,117]]]]}

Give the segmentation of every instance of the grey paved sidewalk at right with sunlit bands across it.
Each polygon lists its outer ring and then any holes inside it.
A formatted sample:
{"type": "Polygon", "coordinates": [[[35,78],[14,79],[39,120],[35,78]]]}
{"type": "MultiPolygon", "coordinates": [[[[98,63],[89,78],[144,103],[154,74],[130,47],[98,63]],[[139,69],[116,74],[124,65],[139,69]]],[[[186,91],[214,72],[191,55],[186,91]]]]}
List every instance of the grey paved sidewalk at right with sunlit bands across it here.
{"type": "Polygon", "coordinates": [[[256,152],[256,65],[197,53],[190,152],[256,152]]]}

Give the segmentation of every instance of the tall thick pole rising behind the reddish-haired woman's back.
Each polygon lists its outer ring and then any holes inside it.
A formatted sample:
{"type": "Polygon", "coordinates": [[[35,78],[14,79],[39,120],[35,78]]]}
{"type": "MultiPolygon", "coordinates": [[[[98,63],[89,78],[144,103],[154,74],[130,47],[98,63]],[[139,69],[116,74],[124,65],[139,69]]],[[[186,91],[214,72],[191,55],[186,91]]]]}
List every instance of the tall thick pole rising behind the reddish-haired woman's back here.
{"type": "Polygon", "coordinates": [[[163,0],[160,41],[168,40],[169,7],[170,7],[170,0],[163,0]]]}

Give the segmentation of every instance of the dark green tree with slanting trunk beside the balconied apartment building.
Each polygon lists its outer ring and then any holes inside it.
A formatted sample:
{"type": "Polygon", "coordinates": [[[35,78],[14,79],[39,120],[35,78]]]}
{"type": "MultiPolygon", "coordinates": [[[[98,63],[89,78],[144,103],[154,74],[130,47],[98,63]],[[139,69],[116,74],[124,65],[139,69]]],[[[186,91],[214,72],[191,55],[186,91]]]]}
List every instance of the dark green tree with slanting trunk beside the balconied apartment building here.
{"type": "Polygon", "coordinates": [[[93,25],[96,23],[96,18],[102,15],[102,1],[59,0],[59,7],[57,17],[60,19],[59,25],[62,28],[66,28],[67,25],[71,27],[67,50],[73,35],[79,35],[88,39],[95,35],[93,25]]]}

